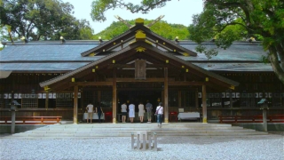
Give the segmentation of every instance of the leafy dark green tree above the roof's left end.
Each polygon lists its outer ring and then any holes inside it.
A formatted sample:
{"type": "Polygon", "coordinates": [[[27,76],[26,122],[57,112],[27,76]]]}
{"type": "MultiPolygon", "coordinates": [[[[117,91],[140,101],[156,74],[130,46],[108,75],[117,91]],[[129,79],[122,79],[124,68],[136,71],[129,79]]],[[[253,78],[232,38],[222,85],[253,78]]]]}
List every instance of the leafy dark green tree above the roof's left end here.
{"type": "Polygon", "coordinates": [[[10,26],[12,34],[31,40],[91,38],[89,22],[76,20],[73,9],[61,0],[0,0],[1,26],[10,26]]]}

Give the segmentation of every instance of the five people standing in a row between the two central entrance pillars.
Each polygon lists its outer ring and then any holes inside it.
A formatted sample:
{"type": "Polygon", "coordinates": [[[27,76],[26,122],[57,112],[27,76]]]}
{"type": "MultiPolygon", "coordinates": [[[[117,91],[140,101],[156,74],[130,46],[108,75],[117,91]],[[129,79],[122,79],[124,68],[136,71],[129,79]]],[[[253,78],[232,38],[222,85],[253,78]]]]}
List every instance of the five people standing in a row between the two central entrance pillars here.
{"type": "MultiPolygon", "coordinates": [[[[143,105],[143,103],[139,103],[138,105],[138,116],[140,123],[143,123],[144,121],[144,114],[147,113],[147,123],[152,123],[152,109],[153,105],[147,101],[146,106],[143,105]]],[[[126,116],[127,116],[127,105],[126,103],[122,104],[122,123],[125,123],[126,116]]],[[[162,102],[159,103],[159,106],[156,108],[155,116],[157,116],[157,123],[159,127],[162,127],[162,115],[163,115],[163,107],[162,102]]],[[[133,123],[133,119],[135,117],[135,105],[133,103],[130,103],[129,105],[129,117],[130,117],[130,123],[133,123]]]]}

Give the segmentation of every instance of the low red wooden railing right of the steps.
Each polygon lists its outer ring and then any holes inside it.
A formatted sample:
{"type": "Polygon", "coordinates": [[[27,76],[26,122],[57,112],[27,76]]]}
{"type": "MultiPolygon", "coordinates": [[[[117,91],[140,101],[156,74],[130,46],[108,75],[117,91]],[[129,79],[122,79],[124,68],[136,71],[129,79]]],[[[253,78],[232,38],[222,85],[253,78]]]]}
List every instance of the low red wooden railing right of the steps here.
{"type": "MultiPolygon", "coordinates": [[[[220,124],[263,123],[263,116],[219,116],[220,124]]],[[[267,116],[267,123],[284,123],[284,115],[267,116]]]]}

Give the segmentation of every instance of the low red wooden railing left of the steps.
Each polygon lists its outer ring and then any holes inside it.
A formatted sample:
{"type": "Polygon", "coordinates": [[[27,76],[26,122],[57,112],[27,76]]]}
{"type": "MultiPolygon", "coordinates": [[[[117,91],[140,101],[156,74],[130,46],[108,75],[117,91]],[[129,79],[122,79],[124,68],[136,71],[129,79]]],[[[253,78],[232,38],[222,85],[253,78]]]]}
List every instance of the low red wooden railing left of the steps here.
{"type": "MultiPolygon", "coordinates": [[[[15,124],[59,124],[62,116],[16,116],[15,124]]],[[[0,117],[0,124],[12,124],[11,116],[0,117]]]]}

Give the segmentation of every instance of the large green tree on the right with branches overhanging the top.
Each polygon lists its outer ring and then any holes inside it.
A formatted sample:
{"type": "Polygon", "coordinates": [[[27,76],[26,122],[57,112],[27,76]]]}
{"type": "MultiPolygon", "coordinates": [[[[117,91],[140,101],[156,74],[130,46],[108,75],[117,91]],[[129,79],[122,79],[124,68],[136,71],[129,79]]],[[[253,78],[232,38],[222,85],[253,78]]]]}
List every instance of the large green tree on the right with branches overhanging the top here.
{"type": "MultiPolygon", "coordinates": [[[[95,0],[92,3],[92,20],[106,20],[104,12],[123,7],[130,12],[150,12],[170,0],[141,0],[140,5],[123,0],[95,0]]],[[[217,47],[228,48],[243,37],[262,40],[267,56],[263,60],[284,84],[284,1],[283,0],[203,0],[201,14],[193,15],[189,26],[190,39],[201,44],[213,39],[217,47]]],[[[208,58],[217,55],[200,45],[197,50],[208,58]]]]}

